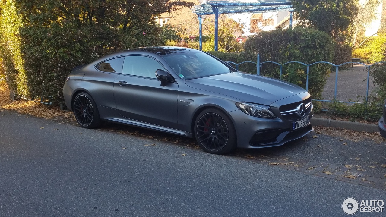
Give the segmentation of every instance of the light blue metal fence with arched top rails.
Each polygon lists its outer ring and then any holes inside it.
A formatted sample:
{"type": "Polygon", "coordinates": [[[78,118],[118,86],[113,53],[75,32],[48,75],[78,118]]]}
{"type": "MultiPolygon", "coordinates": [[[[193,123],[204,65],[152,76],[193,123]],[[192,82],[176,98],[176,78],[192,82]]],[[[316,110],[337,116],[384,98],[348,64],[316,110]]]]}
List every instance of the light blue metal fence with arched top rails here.
{"type": "Polygon", "coordinates": [[[253,64],[256,65],[256,68],[257,68],[256,73],[257,73],[257,75],[260,75],[260,67],[262,66],[262,64],[264,64],[264,63],[273,63],[273,64],[276,64],[276,65],[280,66],[280,79],[282,79],[282,75],[283,75],[283,66],[285,66],[286,64],[289,64],[289,63],[299,63],[299,64],[302,64],[303,66],[307,67],[307,71],[306,71],[306,75],[307,75],[307,77],[306,77],[306,90],[307,91],[308,91],[308,79],[309,79],[308,76],[310,74],[310,66],[312,66],[314,64],[318,64],[318,63],[330,64],[331,66],[335,66],[334,100],[316,100],[316,99],[314,99],[314,101],[320,101],[320,102],[342,102],[342,103],[367,103],[368,100],[369,100],[370,68],[371,68],[371,66],[375,66],[375,65],[378,65],[378,64],[386,64],[386,62],[378,62],[378,63],[374,63],[374,64],[364,64],[364,63],[359,63],[359,62],[347,62],[347,63],[342,63],[342,64],[339,64],[339,65],[335,65],[333,63],[325,62],[325,61],[315,62],[315,63],[312,63],[312,64],[305,64],[305,63],[302,63],[302,62],[299,62],[299,61],[290,61],[290,62],[283,63],[283,64],[280,64],[280,63],[277,63],[277,62],[274,62],[274,61],[265,61],[265,62],[260,63],[260,54],[257,54],[257,61],[256,61],[256,63],[252,62],[252,61],[244,61],[242,63],[234,63],[234,62],[228,62],[228,63],[234,64],[236,66],[237,70],[239,70],[239,66],[241,64],[253,63],[253,64]],[[339,71],[339,66],[343,66],[345,64],[354,64],[354,63],[366,66],[366,70],[367,70],[366,102],[344,102],[344,101],[337,101],[337,87],[338,87],[338,71],[339,71]],[[260,66],[260,67],[257,67],[257,66],[260,66]]]}

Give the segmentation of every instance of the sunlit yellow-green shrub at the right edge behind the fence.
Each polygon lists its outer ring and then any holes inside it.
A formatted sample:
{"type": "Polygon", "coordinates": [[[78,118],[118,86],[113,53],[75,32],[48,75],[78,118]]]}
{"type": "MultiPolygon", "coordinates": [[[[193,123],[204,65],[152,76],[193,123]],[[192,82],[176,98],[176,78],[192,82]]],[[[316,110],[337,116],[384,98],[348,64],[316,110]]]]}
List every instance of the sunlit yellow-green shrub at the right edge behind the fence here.
{"type": "Polygon", "coordinates": [[[352,56],[365,63],[378,63],[386,59],[386,34],[378,34],[352,51],[352,56]]]}

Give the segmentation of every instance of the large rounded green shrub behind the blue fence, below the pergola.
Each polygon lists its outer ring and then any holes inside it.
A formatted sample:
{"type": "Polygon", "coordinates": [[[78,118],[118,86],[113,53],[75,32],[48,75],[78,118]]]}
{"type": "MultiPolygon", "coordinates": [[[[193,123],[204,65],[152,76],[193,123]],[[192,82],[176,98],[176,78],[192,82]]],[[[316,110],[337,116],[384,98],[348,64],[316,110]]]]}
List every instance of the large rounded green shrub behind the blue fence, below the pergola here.
{"type": "MultiPolygon", "coordinates": [[[[254,62],[257,54],[260,54],[261,62],[275,61],[283,64],[300,61],[311,64],[318,61],[331,62],[334,42],[325,32],[295,27],[261,32],[249,37],[244,50],[244,59],[254,62]]],[[[330,68],[330,65],[322,63],[310,66],[308,92],[312,98],[321,99],[330,68]]],[[[263,64],[261,75],[280,78],[280,67],[272,63],[263,64]]],[[[306,88],[306,67],[298,63],[287,64],[283,66],[282,79],[306,88]]],[[[321,108],[320,103],[315,102],[315,108],[321,108]]]]}

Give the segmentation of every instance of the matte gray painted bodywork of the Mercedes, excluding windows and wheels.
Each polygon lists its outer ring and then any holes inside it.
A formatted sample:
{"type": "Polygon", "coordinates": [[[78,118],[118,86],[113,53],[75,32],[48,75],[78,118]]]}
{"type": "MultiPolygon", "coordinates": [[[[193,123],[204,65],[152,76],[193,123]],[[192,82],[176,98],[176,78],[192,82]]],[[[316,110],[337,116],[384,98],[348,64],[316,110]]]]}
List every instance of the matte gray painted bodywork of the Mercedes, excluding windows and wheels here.
{"type": "MultiPolygon", "coordinates": [[[[161,56],[156,54],[157,49],[163,51],[163,49],[175,48],[150,47],[125,50],[104,56],[86,66],[74,68],[76,71],[69,75],[70,80],[63,88],[67,107],[72,108],[71,99],[74,93],[84,90],[97,103],[103,120],[188,137],[193,137],[194,115],[201,108],[215,107],[227,114],[235,125],[238,147],[254,148],[277,146],[287,142],[281,140],[262,146],[249,145],[251,137],[262,129],[290,129],[295,120],[284,120],[279,112],[280,105],[299,102],[310,96],[303,88],[294,84],[264,76],[239,73],[234,69],[232,69],[234,73],[183,80],[161,56]],[[155,79],[106,73],[94,67],[108,59],[128,55],[145,55],[157,59],[175,82],[169,82],[165,87],[161,87],[161,82],[155,79]],[[75,81],[74,77],[79,73],[85,75],[81,81],[75,81]],[[118,81],[125,81],[128,85],[120,86],[118,81]],[[240,101],[271,105],[277,117],[264,119],[247,115],[236,107],[235,103],[240,101]]],[[[197,51],[188,48],[180,49],[181,52],[197,51]]],[[[307,115],[312,117],[312,114],[311,110],[307,115]]],[[[288,132],[283,132],[278,138],[283,139],[288,132]]]]}

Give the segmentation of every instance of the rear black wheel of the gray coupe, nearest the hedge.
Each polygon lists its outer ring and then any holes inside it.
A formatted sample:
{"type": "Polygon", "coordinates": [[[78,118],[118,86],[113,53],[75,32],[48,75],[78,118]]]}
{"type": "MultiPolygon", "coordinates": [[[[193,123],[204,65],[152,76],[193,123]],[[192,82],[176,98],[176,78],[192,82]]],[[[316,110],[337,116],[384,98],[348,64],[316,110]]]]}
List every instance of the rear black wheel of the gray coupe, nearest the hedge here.
{"type": "Polygon", "coordinates": [[[101,123],[97,104],[88,93],[81,92],[76,95],[73,111],[76,121],[83,128],[93,129],[101,123]]]}

